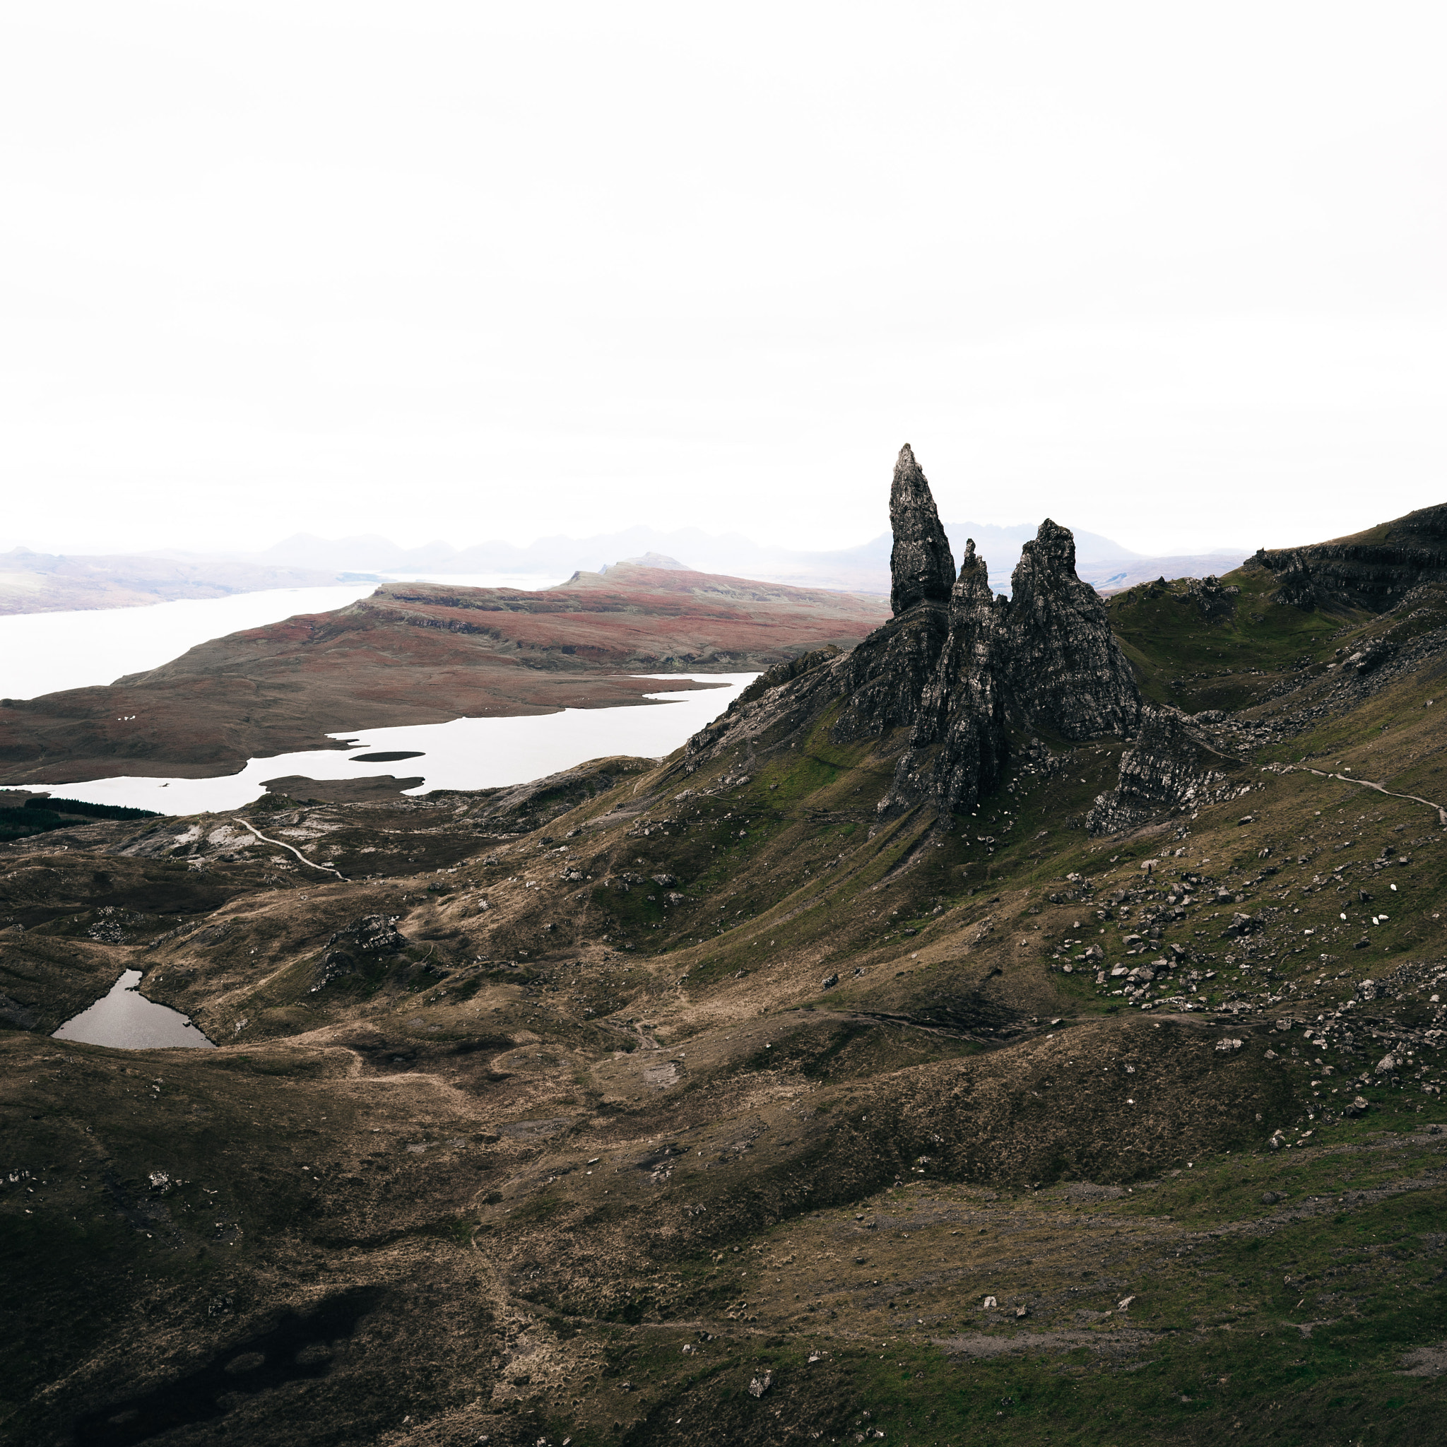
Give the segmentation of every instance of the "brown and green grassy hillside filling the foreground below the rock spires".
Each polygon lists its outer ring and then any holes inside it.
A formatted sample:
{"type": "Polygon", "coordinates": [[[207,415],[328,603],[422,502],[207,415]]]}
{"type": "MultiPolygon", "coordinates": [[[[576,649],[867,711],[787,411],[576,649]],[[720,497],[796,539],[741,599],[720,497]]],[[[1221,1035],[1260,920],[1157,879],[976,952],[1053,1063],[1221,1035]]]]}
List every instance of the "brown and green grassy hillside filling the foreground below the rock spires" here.
{"type": "Polygon", "coordinates": [[[1111,601],[1230,781],[1130,835],[825,713],[6,845],[9,1438],[1435,1440],[1447,614],[1269,579],[1111,601]],[[42,1033],[122,968],[220,1048],[42,1033]]]}

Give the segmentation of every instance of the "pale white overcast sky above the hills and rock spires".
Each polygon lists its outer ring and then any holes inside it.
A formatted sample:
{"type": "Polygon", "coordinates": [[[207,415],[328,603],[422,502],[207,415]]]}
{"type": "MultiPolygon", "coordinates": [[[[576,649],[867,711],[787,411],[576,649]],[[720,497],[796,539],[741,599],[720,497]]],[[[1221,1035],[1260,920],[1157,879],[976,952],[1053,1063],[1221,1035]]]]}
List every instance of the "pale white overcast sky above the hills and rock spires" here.
{"type": "Polygon", "coordinates": [[[1443,16],[10,7],[0,546],[1440,502],[1443,16]]]}

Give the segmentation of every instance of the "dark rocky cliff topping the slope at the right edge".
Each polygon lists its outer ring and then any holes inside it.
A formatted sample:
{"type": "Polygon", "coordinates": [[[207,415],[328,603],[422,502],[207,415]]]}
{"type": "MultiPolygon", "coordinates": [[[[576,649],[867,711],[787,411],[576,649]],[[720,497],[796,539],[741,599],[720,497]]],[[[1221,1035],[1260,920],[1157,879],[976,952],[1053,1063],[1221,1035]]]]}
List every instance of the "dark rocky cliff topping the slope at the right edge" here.
{"type": "Polygon", "coordinates": [[[1273,602],[1383,614],[1414,587],[1447,580],[1447,504],[1330,543],[1260,548],[1246,566],[1278,574],[1273,602]]]}

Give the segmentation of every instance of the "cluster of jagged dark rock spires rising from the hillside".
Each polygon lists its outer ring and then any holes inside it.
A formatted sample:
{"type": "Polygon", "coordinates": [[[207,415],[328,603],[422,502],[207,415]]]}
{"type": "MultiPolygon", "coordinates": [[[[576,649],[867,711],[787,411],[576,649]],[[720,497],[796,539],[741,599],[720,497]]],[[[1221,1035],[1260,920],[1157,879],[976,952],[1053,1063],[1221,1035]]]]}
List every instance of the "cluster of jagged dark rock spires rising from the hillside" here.
{"type": "Polygon", "coordinates": [[[1014,599],[994,598],[974,540],[945,583],[949,540],[909,446],[894,467],[894,618],[835,660],[774,670],[690,741],[686,767],[721,748],[755,747],[842,700],[836,744],[910,729],[881,810],[948,815],[990,793],[1009,760],[1009,728],[1078,741],[1132,734],[1140,693],[1106,606],[1075,573],[1075,540],[1046,518],[1014,570],[1014,599]],[[790,724],[793,721],[793,724],[790,724]]]}

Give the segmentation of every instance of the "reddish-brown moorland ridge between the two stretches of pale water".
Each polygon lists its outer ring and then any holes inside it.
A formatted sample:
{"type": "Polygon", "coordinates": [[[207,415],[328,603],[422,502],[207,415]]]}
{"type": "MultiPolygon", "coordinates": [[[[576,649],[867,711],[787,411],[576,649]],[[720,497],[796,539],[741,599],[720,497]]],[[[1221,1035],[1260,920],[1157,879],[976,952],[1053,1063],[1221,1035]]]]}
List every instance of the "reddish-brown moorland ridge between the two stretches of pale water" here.
{"type": "Polygon", "coordinates": [[[110,686],[3,700],[0,781],[197,778],[343,748],[326,738],[339,729],[644,703],[658,684],[640,673],[763,670],[848,648],[887,614],[880,598],[634,564],[541,592],[388,583],[110,686]]]}

